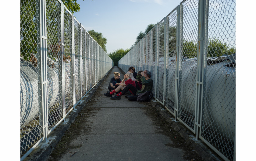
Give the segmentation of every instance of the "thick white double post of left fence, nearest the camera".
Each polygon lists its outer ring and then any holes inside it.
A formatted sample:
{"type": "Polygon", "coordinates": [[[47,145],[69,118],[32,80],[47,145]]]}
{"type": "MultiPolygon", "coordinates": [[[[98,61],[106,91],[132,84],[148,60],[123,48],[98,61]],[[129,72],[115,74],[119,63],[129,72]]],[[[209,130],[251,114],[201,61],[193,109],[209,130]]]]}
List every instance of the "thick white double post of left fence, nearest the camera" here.
{"type": "Polygon", "coordinates": [[[44,141],[47,142],[48,136],[48,101],[47,101],[47,32],[46,32],[46,2],[45,0],[40,1],[40,57],[41,57],[41,102],[42,107],[40,108],[41,114],[39,117],[42,120],[43,137],[44,141]]]}

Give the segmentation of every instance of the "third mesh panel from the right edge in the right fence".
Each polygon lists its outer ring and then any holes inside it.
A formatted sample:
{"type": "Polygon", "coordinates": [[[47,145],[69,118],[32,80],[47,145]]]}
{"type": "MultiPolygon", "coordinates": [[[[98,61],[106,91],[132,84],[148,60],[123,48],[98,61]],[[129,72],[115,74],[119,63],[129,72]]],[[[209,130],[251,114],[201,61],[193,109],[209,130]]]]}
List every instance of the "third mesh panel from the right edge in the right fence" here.
{"type": "Polygon", "coordinates": [[[167,45],[167,67],[165,81],[165,106],[174,115],[175,108],[175,68],[176,68],[176,26],[177,26],[177,9],[172,11],[167,18],[168,21],[168,42],[167,45]]]}

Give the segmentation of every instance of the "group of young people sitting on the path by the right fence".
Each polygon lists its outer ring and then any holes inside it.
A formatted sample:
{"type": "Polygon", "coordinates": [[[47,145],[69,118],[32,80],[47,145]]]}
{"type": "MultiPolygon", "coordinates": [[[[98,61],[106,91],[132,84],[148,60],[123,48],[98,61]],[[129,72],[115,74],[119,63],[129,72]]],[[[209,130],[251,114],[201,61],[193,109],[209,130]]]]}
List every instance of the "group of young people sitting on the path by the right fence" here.
{"type": "Polygon", "coordinates": [[[123,80],[120,79],[118,72],[114,72],[114,77],[112,77],[109,82],[109,91],[104,93],[105,96],[113,100],[120,100],[122,94],[126,94],[126,92],[130,91],[132,95],[126,95],[125,97],[130,101],[136,101],[138,94],[152,91],[153,80],[151,79],[151,72],[149,70],[140,70],[138,73],[135,72],[134,67],[130,67],[128,70],[123,80]],[[117,95],[112,97],[115,93],[117,93],[117,95]]]}

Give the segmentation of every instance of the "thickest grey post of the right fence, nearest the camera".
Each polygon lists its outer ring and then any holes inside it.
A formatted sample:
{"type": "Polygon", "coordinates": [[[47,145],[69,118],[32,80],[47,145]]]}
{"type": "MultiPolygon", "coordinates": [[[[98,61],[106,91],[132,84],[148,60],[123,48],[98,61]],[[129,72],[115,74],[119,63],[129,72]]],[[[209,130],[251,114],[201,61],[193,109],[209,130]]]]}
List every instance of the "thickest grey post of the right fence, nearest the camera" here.
{"type": "Polygon", "coordinates": [[[208,0],[199,0],[198,4],[198,42],[197,42],[197,76],[195,104],[195,133],[199,139],[203,94],[205,90],[207,36],[208,36],[208,0]]]}

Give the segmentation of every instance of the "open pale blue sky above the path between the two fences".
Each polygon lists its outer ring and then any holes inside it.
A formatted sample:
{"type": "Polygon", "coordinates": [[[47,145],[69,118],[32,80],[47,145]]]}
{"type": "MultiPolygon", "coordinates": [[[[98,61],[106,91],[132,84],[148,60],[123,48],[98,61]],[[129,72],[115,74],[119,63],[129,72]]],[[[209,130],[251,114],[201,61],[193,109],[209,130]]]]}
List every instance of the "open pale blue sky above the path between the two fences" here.
{"type": "Polygon", "coordinates": [[[102,33],[107,53],[130,48],[140,31],[161,21],[182,0],[77,0],[80,12],[74,16],[88,31],[102,33]]]}

